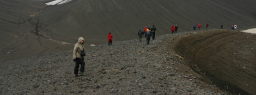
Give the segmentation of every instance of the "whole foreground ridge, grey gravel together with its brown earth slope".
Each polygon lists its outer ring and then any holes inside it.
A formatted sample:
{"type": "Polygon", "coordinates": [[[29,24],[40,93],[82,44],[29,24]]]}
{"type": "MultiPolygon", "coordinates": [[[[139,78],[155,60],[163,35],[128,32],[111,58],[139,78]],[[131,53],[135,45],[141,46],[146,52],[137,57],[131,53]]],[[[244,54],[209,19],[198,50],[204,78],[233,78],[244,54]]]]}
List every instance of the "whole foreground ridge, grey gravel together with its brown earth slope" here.
{"type": "Polygon", "coordinates": [[[254,94],[255,39],[211,30],[86,45],[87,75],[77,78],[72,50],[36,55],[0,64],[0,93],[254,94]]]}

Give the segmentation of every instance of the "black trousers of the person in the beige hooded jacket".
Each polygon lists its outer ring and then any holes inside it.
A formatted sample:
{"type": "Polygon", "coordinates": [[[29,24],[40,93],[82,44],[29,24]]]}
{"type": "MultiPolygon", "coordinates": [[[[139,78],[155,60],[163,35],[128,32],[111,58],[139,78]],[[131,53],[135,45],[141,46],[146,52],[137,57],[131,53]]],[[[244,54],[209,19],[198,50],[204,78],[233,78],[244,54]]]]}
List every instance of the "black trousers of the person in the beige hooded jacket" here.
{"type": "Polygon", "coordinates": [[[76,58],[76,66],[75,66],[74,74],[78,74],[79,65],[81,65],[80,72],[84,72],[85,63],[84,63],[83,59],[82,58],[76,58]]]}

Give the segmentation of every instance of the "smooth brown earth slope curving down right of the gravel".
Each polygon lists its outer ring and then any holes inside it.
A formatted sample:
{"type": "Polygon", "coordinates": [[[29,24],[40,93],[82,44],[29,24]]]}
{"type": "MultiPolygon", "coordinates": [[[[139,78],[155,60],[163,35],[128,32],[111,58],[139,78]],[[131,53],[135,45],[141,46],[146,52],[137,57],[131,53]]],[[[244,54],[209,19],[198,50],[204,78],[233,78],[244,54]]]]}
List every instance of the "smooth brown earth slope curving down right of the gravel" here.
{"type": "Polygon", "coordinates": [[[205,81],[236,94],[255,94],[255,40],[256,34],[211,30],[182,36],[174,49],[205,81]]]}

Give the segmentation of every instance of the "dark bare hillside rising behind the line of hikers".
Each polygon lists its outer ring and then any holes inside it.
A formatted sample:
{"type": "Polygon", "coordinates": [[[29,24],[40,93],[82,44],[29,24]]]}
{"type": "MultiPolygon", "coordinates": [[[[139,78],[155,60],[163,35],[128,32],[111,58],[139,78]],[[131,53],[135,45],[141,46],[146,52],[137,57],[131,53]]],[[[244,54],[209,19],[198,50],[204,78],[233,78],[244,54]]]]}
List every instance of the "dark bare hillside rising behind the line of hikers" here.
{"type": "Polygon", "coordinates": [[[0,61],[72,49],[79,36],[89,44],[101,44],[107,33],[114,41],[137,38],[137,30],[157,27],[156,35],[169,34],[209,23],[209,28],[237,24],[238,29],[255,27],[256,1],[78,1],[47,6],[45,1],[0,1],[0,61]]]}

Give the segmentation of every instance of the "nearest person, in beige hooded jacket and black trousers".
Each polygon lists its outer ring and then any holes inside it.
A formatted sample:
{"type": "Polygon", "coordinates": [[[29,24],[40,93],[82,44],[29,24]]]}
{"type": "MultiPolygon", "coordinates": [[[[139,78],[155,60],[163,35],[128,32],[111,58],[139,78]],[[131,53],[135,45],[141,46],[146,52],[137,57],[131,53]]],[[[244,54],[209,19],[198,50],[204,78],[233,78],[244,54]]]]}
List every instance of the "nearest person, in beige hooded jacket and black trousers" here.
{"type": "Polygon", "coordinates": [[[83,42],[84,42],[83,37],[79,37],[78,42],[75,44],[75,47],[73,50],[73,61],[76,62],[76,66],[75,66],[75,70],[74,70],[75,77],[78,77],[79,65],[81,65],[81,67],[80,67],[81,74],[80,75],[81,76],[85,75],[84,74],[85,63],[83,61],[84,60],[83,56],[85,56],[85,53],[84,53],[83,42]],[[84,55],[82,53],[84,53],[84,55]]]}

